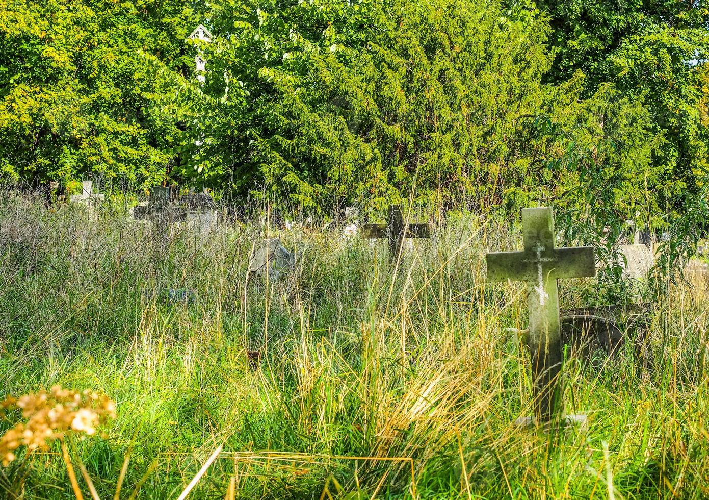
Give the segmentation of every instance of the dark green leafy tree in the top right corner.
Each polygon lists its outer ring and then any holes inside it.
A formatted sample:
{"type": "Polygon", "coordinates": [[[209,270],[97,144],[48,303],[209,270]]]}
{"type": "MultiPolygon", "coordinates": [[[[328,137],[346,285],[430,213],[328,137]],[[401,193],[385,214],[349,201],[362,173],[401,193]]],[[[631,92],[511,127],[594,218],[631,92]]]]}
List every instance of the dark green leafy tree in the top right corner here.
{"type": "MultiPolygon", "coordinates": [[[[654,155],[668,196],[696,189],[709,174],[709,129],[700,111],[709,56],[706,1],[540,1],[557,55],[550,82],[586,75],[584,94],[611,82],[649,109],[664,143],[654,155]]],[[[517,5],[515,3],[515,5],[517,5]]],[[[536,7],[536,6],[535,6],[536,7]]]]}

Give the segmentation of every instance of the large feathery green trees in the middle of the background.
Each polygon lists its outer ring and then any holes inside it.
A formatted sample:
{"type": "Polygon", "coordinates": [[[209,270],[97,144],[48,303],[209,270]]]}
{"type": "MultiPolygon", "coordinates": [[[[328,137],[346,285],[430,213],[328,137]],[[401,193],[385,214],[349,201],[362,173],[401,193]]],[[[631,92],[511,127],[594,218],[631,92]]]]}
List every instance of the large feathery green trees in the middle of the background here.
{"type": "Polygon", "coordinates": [[[576,176],[541,167],[559,147],[538,137],[541,114],[593,130],[585,140],[618,139],[629,145],[619,168],[648,169],[655,138],[640,106],[607,87],[582,100],[580,74],[542,84],[549,27],[534,11],[230,0],[211,21],[206,84],[162,71],[165,89],[181,89],[169,109],[193,124],[181,140],[194,160],[185,174],[237,190],[258,179],[266,194],[311,208],[410,196],[450,205],[459,195],[511,208],[576,176]]]}

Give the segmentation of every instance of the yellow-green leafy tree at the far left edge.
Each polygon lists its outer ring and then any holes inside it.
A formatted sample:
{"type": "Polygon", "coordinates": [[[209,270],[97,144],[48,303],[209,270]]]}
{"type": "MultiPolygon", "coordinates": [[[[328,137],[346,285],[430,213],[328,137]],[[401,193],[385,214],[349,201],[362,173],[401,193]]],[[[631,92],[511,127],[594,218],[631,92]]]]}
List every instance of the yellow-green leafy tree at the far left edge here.
{"type": "Polygon", "coordinates": [[[161,182],[179,130],[149,112],[144,55],[186,72],[184,38],[200,17],[176,0],[0,0],[1,172],[161,182]]]}

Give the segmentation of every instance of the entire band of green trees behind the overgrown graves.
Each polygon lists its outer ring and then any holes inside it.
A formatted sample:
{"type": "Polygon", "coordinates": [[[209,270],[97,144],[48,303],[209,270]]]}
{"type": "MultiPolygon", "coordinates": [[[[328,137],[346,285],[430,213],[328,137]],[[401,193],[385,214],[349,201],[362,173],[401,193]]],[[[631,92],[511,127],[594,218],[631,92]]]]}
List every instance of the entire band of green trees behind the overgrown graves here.
{"type": "Polygon", "coordinates": [[[706,173],[701,3],[0,2],[10,177],[512,208],[579,183],[573,145],[630,213],[706,173]]]}

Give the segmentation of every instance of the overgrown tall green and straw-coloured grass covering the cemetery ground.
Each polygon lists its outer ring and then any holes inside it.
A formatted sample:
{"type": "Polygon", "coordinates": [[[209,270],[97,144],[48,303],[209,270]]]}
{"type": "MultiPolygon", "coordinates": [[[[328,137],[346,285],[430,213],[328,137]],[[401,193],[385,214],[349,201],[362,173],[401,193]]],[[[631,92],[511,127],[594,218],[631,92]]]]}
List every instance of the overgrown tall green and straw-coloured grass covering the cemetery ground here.
{"type": "MultiPolygon", "coordinates": [[[[272,229],[297,253],[271,281],[247,280],[259,224],[197,237],[126,215],[3,200],[0,397],[89,389],[116,418],[18,448],[2,498],[709,496],[701,272],[613,357],[566,358],[566,413],[587,419],[549,431],[515,425],[533,408],[510,333],[527,328],[525,285],[485,267],[521,248],[506,221],[450,217],[398,264],[342,228],[272,229]]],[[[562,308],[594,287],[560,280],[562,308]]],[[[6,413],[0,434],[21,420],[6,413]]]]}

